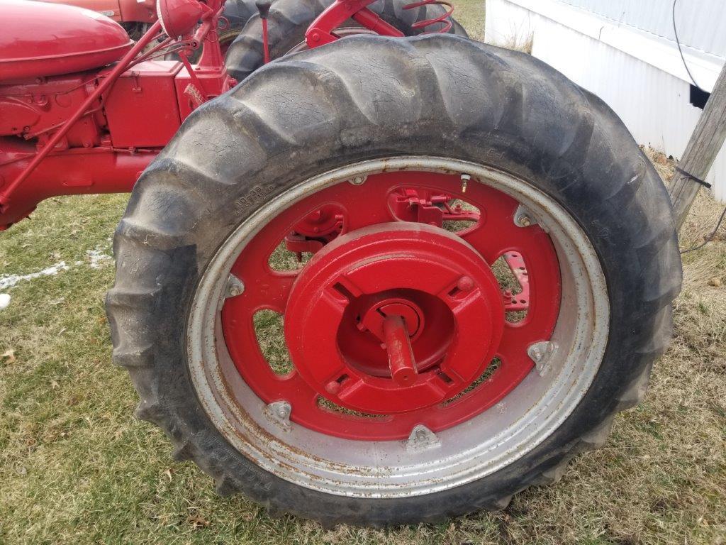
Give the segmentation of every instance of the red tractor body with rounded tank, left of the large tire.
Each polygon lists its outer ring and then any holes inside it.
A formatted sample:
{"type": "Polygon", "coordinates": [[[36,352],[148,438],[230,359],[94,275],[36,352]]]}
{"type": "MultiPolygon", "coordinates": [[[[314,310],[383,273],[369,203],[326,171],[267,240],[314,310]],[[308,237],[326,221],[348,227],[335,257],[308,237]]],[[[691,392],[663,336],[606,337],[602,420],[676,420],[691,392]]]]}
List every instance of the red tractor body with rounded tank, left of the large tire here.
{"type": "Polygon", "coordinates": [[[1,9],[14,24],[0,36],[0,229],[52,195],[131,190],[181,121],[234,83],[211,37],[219,10],[197,31],[200,62],[185,65],[141,53],[158,25],[134,46],[86,9],[25,0],[1,9]]]}

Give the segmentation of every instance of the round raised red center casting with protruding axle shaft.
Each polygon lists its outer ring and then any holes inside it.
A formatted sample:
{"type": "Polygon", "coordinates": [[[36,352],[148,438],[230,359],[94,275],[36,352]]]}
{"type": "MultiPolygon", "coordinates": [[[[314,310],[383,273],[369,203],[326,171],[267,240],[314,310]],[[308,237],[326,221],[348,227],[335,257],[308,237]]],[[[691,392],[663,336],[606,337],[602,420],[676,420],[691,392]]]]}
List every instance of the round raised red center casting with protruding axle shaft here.
{"type": "Polygon", "coordinates": [[[390,222],[342,235],[295,280],[285,339],[319,395],[366,413],[436,405],[471,384],[504,330],[489,265],[436,227],[390,222]]]}

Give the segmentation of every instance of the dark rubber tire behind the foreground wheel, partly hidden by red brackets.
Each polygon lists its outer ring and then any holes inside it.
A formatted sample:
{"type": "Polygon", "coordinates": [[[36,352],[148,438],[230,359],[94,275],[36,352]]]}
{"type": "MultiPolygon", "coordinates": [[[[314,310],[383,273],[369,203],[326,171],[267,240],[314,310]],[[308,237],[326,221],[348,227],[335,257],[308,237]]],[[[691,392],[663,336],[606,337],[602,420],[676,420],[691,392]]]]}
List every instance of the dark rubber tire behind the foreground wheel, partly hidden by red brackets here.
{"type": "MultiPolygon", "coordinates": [[[[418,21],[443,15],[444,6],[429,4],[416,9],[404,9],[404,6],[411,2],[412,0],[377,0],[369,8],[406,36],[416,36],[422,31],[435,29],[436,25],[424,29],[412,28],[412,25],[418,21]]],[[[333,4],[333,0],[275,0],[267,23],[270,58],[280,58],[305,41],[305,31],[310,23],[330,4],[333,4]]],[[[343,24],[343,27],[355,26],[359,25],[354,21],[343,24]]],[[[457,23],[454,17],[449,33],[468,36],[464,27],[457,23]]],[[[254,15],[227,49],[225,64],[229,73],[237,78],[237,81],[242,81],[260,68],[263,62],[262,23],[259,15],[254,15]]]]}

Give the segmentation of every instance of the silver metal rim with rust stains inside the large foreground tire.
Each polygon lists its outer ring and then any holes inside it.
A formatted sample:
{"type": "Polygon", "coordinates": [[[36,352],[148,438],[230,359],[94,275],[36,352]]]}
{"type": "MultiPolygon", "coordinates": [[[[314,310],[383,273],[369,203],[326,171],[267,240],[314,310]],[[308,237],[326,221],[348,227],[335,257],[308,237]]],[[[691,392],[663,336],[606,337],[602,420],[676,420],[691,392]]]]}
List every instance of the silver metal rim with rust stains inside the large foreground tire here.
{"type": "Polygon", "coordinates": [[[552,435],[592,384],[608,341],[605,277],[587,236],[551,197],[522,179],[465,161],[398,157],[364,161],[295,185],[237,227],[211,258],[187,321],[187,364],[205,413],[242,455],[277,477],[316,491],[396,498],[448,490],[492,475],[552,435]],[[221,334],[220,310],[229,271],[240,251],[270,219],[335,183],[392,170],[470,174],[473,182],[511,195],[550,234],[560,261],[562,302],[552,334],[558,349],[544,375],[533,371],[502,402],[436,434],[437,445],[355,441],[282,427],[245,384],[221,334]],[[235,392],[235,395],[232,395],[235,392]],[[407,448],[407,446],[409,448],[407,448]]]}

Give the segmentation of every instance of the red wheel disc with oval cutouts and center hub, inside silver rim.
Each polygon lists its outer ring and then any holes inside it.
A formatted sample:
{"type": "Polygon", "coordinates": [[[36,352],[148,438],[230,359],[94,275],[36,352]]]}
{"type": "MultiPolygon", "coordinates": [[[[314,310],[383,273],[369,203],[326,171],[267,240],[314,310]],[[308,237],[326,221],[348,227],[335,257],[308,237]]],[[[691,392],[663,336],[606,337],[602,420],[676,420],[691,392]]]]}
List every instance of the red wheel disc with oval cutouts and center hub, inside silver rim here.
{"type": "Polygon", "coordinates": [[[264,403],[290,403],[295,424],[356,440],[405,439],[417,424],[437,432],[485,411],[531,372],[527,348],[550,338],[559,311],[552,241],[537,224],[515,223],[518,206],[476,180],[464,187],[457,175],[417,171],[298,201],[232,267],[245,290],[225,300],[221,326],[237,371],[264,403]],[[446,219],[470,227],[449,233],[446,219]],[[314,256],[272,270],[290,233],[301,243],[293,251],[314,256]],[[492,273],[499,257],[517,270],[516,297],[492,273]],[[260,310],[284,317],[294,366],[284,376],[258,344],[260,310]],[[507,320],[514,310],[526,316],[507,320]]]}

